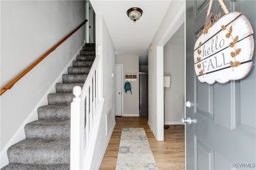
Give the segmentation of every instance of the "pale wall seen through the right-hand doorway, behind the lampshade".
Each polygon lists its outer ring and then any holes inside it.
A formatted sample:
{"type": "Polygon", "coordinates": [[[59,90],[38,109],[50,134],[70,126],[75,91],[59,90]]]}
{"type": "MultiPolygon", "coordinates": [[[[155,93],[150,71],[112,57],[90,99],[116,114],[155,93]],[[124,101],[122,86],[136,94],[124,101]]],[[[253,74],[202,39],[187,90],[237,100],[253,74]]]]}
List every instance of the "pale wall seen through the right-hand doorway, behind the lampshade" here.
{"type": "Polygon", "coordinates": [[[170,88],[165,88],[164,124],[180,124],[184,117],[184,24],[164,45],[164,76],[171,76],[170,88]]]}

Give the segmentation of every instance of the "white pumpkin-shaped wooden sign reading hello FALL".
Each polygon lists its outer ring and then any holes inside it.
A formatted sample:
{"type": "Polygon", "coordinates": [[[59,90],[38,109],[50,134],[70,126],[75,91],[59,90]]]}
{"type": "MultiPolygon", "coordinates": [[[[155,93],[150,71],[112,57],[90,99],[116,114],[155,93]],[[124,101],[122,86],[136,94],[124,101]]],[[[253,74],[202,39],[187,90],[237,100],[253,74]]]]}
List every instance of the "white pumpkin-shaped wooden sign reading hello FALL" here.
{"type": "Polygon", "coordinates": [[[228,13],[205,26],[195,43],[194,65],[199,81],[227,83],[244,78],[253,64],[253,29],[239,12],[228,13]]]}

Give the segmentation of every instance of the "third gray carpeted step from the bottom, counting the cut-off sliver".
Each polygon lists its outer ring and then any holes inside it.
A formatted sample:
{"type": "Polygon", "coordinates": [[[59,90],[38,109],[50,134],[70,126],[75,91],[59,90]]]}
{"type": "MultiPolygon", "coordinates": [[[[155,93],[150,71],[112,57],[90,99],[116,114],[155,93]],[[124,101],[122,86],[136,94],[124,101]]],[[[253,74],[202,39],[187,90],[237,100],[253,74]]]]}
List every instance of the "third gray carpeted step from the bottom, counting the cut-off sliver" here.
{"type": "Polygon", "coordinates": [[[70,120],[36,120],[25,125],[26,138],[69,139],[70,120]]]}

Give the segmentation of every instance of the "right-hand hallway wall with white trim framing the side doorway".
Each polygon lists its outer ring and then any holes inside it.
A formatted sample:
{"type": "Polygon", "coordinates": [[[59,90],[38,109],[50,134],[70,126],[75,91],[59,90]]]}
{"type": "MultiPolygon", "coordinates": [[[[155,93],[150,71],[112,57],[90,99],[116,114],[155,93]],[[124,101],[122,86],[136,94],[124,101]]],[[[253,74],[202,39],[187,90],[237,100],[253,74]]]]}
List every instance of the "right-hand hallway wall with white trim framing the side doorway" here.
{"type": "Polygon", "coordinates": [[[148,124],[157,140],[164,139],[163,46],[184,23],[185,1],[172,1],[148,50],[148,124]]]}

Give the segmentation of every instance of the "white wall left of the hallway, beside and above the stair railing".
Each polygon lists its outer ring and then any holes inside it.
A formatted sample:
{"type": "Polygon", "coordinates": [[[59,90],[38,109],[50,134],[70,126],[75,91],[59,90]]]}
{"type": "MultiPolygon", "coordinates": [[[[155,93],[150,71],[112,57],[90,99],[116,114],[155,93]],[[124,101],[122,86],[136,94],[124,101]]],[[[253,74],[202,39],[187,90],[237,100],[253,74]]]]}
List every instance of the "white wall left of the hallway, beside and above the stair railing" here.
{"type": "Polygon", "coordinates": [[[96,43],[102,46],[104,106],[91,169],[99,169],[115,125],[115,78],[111,76],[111,73],[115,74],[115,46],[109,35],[104,18],[99,13],[96,14],[96,43]]]}

